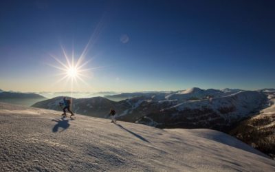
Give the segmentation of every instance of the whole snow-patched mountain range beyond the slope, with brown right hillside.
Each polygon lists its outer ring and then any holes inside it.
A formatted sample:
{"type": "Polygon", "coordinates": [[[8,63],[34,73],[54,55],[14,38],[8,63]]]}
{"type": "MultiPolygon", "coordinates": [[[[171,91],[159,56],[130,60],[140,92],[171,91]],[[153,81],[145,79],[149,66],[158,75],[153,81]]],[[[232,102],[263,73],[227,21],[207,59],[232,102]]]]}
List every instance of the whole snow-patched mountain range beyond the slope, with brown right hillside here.
{"type": "MultiPolygon", "coordinates": [[[[275,89],[245,91],[194,87],[173,92],[112,96],[119,101],[106,97],[72,98],[72,110],[86,116],[109,118],[109,110],[113,108],[116,118],[126,122],[166,129],[216,129],[275,157],[272,135],[275,132],[275,110],[270,108],[274,105],[274,95],[275,89]],[[267,114],[265,109],[269,111],[267,114]],[[254,140],[250,139],[252,135],[254,140]]],[[[32,101],[32,107],[62,111],[59,106],[62,99],[63,96],[59,96],[38,103],[32,101]]]]}

